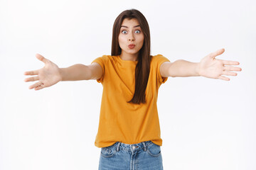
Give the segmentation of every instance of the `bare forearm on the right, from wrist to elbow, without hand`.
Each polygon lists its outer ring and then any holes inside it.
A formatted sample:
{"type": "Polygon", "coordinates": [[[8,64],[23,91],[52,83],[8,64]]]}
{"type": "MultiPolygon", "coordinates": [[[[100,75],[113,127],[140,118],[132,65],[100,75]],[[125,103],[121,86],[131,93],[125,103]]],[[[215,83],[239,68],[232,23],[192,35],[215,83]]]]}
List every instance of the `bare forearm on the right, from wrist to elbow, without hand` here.
{"type": "Polygon", "coordinates": [[[186,60],[176,60],[169,67],[170,77],[198,77],[198,62],[188,62],[186,60]]]}

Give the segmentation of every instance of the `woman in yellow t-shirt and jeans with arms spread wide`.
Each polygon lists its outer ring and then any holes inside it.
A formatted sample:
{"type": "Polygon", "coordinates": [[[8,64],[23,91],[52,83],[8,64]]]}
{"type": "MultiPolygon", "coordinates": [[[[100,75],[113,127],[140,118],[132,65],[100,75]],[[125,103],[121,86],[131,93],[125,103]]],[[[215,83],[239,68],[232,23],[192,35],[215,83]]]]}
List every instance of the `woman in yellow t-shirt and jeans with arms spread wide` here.
{"type": "Polygon", "coordinates": [[[38,81],[29,89],[40,90],[58,81],[97,79],[102,83],[100,123],[95,146],[102,148],[99,169],[163,169],[158,89],[168,77],[202,76],[229,80],[241,71],[238,62],[215,59],[224,49],[210,53],[201,62],[170,62],[162,55],[150,55],[150,33],[139,11],[123,11],[114,21],[112,55],[103,55],[90,65],[59,68],[36,55],[46,65],[25,72],[38,75],[25,81],[38,81]]]}

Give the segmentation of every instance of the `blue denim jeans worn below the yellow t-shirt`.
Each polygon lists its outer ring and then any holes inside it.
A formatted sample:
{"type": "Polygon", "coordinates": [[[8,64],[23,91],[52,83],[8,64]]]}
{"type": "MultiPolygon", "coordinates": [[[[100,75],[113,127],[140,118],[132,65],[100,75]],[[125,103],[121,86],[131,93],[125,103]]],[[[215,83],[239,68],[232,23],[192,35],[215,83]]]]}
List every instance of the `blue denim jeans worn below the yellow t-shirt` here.
{"type": "Polygon", "coordinates": [[[116,142],[102,147],[99,170],[162,170],[161,148],[153,142],[138,144],[116,142]]]}

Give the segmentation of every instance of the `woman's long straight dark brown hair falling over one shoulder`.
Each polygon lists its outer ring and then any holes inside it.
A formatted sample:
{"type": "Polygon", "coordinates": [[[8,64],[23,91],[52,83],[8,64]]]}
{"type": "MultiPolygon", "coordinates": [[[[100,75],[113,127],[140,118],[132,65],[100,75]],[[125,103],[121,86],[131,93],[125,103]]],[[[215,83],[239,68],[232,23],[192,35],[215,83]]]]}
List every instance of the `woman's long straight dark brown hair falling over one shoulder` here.
{"type": "Polygon", "coordinates": [[[119,31],[122,25],[122,21],[124,18],[132,19],[136,18],[139,22],[139,26],[142,28],[142,33],[144,34],[144,43],[142,49],[139,50],[138,62],[135,69],[135,91],[134,96],[131,101],[128,103],[146,103],[146,85],[149,79],[149,72],[150,72],[150,62],[151,62],[151,55],[150,55],[150,33],[149,33],[149,24],[146,21],[144,15],[136,10],[136,9],[129,9],[123,11],[122,13],[117,16],[116,20],[114,21],[113,26],[113,34],[112,34],[112,51],[111,55],[121,55],[122,49],[119,46],[118,36],[119,31]]]}

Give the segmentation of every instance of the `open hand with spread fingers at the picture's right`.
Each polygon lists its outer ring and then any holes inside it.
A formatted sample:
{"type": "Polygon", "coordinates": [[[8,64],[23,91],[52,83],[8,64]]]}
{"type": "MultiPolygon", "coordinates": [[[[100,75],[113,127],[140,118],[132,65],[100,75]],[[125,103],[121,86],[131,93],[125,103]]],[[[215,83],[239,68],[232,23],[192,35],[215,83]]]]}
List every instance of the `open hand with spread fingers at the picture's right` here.
{"type": "Polygon", "coordinates": [[[215,59],[216,56],[221,55],[224,51],[225,50],[223,48],[203,57],[201,62],[198,64],[199,75],[212,79],[223,79],[226,81],[229,81],[230,79],[225,76],[236,76],[237,73],[230,71],[240,72],[242,69],[240,67],[231,67],[230,65],[239,65],[239,62],[215,59]]]}

